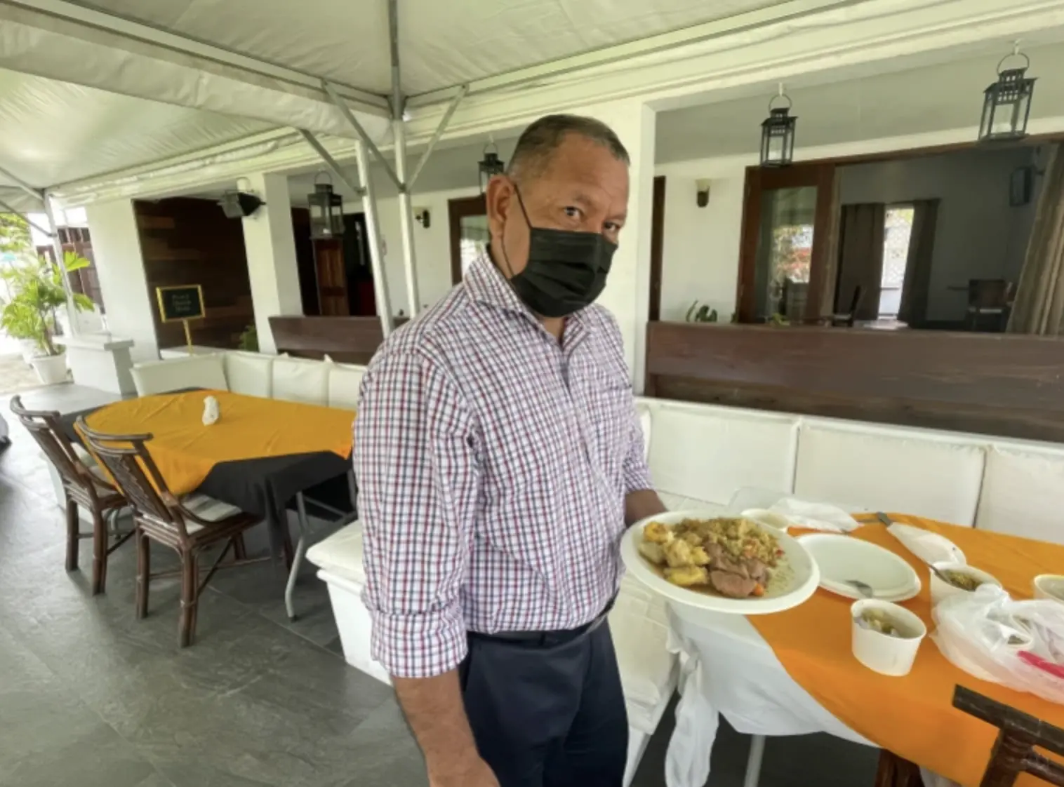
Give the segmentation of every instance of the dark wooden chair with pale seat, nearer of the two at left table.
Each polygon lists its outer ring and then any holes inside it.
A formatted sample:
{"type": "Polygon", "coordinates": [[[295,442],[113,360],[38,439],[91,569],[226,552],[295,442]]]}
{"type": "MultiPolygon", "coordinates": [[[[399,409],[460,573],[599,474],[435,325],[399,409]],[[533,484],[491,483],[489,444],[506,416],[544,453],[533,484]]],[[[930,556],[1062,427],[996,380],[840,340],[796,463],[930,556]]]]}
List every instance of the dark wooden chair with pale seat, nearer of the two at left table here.
{"type": "Polygon", "coordinates": [[[270,559],[247,559],[244,532],[260,519],[206,495],[189,495],[178,500],[166,487],[146,445],[152,435],[111,435],[94,432],[83,418],[78,430],[106,467],[133,507],[137,541],[136,616],[148,614],[148,586],[153,577],[181,574],[181,617],[178,639],[182,648],[196,636],[196,614],[200,593],[219,568],[232,568],[270,559]],[[179,571],[151,573],[149,539],[169,547],[181,558],[179,571]],[[200,557],[225,543],[221,552],[200,581],[200,557]],[[230,548],[233,559],[222,563],[230,548]]]}

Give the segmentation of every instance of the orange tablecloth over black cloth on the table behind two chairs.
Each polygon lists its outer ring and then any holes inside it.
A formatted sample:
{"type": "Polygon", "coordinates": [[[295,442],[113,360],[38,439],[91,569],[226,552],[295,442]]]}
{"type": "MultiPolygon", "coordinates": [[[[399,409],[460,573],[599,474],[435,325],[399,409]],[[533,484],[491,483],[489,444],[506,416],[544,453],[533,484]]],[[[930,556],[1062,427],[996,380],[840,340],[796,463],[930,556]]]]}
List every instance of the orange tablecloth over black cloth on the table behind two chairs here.
{"type": "Polygon", "coordinates": [[[148,452],[174,495],[196,489],[222,462],[331,451],[351,455],[350,411],[248,397],[222,390],[161,393],[101,407],[85,422],[109,434],[150,433],[148,452]],[[203,425],[203,400],[221,417],[203,425]]]}

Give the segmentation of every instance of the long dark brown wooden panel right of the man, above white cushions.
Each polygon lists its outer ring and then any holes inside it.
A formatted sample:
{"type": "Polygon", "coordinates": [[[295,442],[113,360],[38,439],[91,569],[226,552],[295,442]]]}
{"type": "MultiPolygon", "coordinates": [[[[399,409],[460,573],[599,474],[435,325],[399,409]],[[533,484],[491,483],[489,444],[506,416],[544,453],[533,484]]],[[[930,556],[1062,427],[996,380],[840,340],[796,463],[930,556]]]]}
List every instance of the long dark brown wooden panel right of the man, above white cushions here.
{"type": "Polygon", "coordinates": [[[647,393],[1064,441],[1064,340],[839,328],[647,326],[647,393]]]}

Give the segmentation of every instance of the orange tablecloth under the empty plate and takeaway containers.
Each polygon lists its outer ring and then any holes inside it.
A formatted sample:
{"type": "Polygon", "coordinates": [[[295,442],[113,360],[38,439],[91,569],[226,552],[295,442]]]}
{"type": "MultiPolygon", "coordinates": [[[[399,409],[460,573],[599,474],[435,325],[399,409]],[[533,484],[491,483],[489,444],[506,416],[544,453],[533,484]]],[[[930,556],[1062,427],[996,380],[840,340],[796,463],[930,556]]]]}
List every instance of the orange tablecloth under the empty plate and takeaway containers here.
{"type": "MultiPolygon", "coordinates": [[[[949,538],[964,551],[970,565],[994,574],[1015,599],[1031,598],[1031,580],[1036,574],[1064,571],[1064,547],[892,516],[949,538]]],[[[885,547],[916,569],[924,588],[903,606],[919,615],[930,632],[927,567],[881,524],[866,524],[852,537],[885,547]]],[[[821,588],[794,609],[748,619],[798,685],[839,721],[883,749],[965,787],[977,787],[997,727],[953,708],[953,687],[958,684],[1064,726],[1064,705],[972,677],[947,662],[930,637],[920,644],[909,675],[886,677],[872,672],[853,657],[850,648],[852,603],[821,588]]],[[[1044,783],[1025,775],[1017,784],[1034,787],[1044,783]]]]}

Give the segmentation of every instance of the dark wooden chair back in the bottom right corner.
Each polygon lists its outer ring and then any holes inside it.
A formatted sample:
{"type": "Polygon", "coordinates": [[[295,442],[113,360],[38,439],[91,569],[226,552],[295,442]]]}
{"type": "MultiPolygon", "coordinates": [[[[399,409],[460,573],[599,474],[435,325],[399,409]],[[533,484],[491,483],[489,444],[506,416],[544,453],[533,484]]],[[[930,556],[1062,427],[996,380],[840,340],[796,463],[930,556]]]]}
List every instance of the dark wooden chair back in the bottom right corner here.
{"type": "Polygon", "coordinates": [[[1020,773],[1064,787],[1064,766],[1034,751],[1064,756],[1064,730],[963,686],[953,689],[953,707],[1001,730],[981,787],[1012,787],[1020,773]]]}

